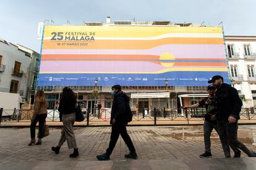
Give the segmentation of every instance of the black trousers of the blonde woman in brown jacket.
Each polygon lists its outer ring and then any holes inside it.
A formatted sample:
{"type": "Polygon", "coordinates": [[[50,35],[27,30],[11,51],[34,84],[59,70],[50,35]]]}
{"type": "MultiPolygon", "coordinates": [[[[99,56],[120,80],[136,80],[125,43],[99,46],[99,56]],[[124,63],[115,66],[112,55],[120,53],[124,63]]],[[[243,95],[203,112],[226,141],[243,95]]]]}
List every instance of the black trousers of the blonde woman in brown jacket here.
{"type": "Polygon", "coordinates": [[[31,122],[30,124],[30,137],[31,139],[35,138],[35,127],[36,127],[36,123],[39,122],[39,132],[38,132],[38,138],[42,139],[43,137],[45,137],[45,119],[47,117],[47,113],[45,114],[40,114],[40,115],[36,115],[35,119],[31,122]]]}

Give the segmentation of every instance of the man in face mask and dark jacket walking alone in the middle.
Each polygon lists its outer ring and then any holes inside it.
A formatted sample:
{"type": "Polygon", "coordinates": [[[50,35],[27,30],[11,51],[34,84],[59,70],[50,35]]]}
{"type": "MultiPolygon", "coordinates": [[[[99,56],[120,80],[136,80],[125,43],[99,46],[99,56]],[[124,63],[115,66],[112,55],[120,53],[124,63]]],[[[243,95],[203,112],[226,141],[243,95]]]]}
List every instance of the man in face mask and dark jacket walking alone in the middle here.
{"type": "Polygon", "coordinates": [[[112,131],[109,147],[106,150],[106,153],[103,153],[103,155],[98,155],[96,158],[99,161],[109,160],[109,156],[114,150],[116,142],[119,138],[119,134],[121,134],[122,139],[130,150],[130,153],[125,155],[125,158],[137,159],[138,155],[135,152],[134,144],[132,144],[132,140],[130,139],[129,134],[127,134],[126,129],[128,124],[126,106],[129,104],[130,99],[126,94],[124,94],[124,92],[121,91],[120,85],[113,86],[111,94],[114,96],[114,100],[111,108],[110,124],[112,124],[112,131]]]}

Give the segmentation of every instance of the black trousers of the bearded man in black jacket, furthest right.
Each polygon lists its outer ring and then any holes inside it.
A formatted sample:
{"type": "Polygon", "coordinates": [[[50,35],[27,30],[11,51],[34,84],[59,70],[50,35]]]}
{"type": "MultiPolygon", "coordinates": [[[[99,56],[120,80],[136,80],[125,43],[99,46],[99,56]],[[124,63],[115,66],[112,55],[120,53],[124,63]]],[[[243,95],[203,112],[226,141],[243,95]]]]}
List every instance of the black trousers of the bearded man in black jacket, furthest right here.
{"type": "Polygon", "coordinates": [[[237,121],[236,123],[229,123],[228,121],[218,120],[218,131],[220,133],[220,139],[228,139],[228,144],[234,150],[234,152],[239,152],[238,149],[241,149],[248,156],[254,156],[252,151],[250,151],[244,144],[242,144],[242,142],[237,140],[237,129],[237,121]]]}

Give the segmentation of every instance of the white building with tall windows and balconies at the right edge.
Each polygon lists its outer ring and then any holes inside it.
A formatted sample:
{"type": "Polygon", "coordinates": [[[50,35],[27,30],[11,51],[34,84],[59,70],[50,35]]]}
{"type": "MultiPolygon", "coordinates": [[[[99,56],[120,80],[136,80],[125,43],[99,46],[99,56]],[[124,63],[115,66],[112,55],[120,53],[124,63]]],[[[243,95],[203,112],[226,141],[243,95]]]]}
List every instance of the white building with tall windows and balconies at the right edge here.
{"type": "Polygon", "coordinates": [[[256,36],[225,36],[229,74],[244,107],[256,106],[256,36]]]}

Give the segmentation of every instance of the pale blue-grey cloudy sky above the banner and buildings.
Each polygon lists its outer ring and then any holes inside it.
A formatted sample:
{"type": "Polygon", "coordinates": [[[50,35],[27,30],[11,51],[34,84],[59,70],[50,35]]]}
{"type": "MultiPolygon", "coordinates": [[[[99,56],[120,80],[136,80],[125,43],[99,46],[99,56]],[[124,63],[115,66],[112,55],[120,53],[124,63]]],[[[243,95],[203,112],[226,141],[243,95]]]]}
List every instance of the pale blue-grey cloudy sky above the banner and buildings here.
{"type": "Polygon", "coordinates": [[[36,39],[38,22],[53,20],[55,25],[82,25],[114,20],[202,23],[218,26],[225,35],[256,35],[255,0],[1,0],[0,38],[40,52],[36,39]]]}

